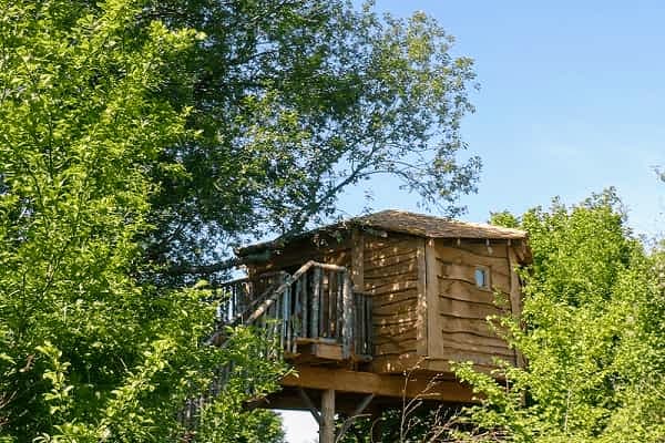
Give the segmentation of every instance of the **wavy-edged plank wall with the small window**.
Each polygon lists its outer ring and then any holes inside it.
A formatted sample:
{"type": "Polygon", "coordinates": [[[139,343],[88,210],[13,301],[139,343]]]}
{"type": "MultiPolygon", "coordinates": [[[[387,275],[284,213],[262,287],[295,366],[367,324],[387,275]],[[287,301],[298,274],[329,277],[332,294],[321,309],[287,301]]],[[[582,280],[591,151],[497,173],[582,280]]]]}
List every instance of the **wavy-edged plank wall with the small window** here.
{"type": "Polygon", "coordinates": [[[515,288],[519,290],[516,278],[511,275],[509,249],[505,241],[488,246],[450,239],[437,239],[428,249],[428,319],[433,323],[429,326],[430,358],[444,362],[470,360],[481,369],[493,368],[495,357],[515,363],[514,351],[487,321],[490,316],[510,311],[511,298],[514,300],[515,288]],[[477,286],[478,267],[489,271],[491,289],[477,286]],[[495,290],[504,295],[503,305],[497,306],[495,290]]]}

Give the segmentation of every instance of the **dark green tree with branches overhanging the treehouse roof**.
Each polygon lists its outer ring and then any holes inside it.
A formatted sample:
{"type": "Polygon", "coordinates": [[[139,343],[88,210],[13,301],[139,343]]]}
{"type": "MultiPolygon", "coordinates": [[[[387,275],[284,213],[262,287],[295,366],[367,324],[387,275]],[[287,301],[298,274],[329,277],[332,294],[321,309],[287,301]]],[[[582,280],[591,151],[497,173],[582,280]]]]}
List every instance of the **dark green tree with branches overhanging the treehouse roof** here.
{"type": "MultiPolygon", "coordinates": [[[[247,236],[294,234],[337,198],[388,174],[449,215],[480,161],[459,161],[472,61],[431,18],[378,17],[346,0],[166,0],[144,11],[206,34],[188,56],[188,127],[162,152],[149,259],[157,281],[209,278],[247,236]],[[180,169],[182,167],[182,169],[180,169]],[[180,174],[183,172],[183,174],[180,174]]],[[[175,71],[175,70],[174,70],[175,71]]]]}

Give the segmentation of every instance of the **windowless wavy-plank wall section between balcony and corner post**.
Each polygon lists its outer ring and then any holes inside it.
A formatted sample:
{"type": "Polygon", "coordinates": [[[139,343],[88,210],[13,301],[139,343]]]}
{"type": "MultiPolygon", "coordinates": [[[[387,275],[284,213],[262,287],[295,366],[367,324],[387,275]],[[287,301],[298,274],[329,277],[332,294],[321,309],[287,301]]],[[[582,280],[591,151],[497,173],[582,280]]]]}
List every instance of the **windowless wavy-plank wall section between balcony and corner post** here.
{"type": "Polygon", "coordinates": [[[365,290],[371,293],[374,303],[372,368],[376,372],[399,372],[418,349],[422,238],[393,233],[385,238],[364,237],[365,290]]]}

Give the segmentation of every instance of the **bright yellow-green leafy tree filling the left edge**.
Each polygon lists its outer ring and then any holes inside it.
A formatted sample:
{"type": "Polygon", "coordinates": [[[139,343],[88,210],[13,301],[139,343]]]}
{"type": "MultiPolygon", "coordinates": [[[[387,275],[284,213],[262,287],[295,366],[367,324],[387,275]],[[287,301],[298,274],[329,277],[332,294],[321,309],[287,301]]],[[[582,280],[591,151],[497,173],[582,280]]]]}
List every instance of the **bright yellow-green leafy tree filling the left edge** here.
{"type": "MultiPolygon", "coordinates": [[[[137,280],[154,169],[178,176],[161,158],[192,136],[190,110],[164,91],[176,80],[191,90],[170,70],[197,37],[137,20],[146,10],[0,0],[2,441],[174,441],[185,399],[232,360],[245,383],[229,383],[232,404],[275,388],[280,365],[258,358],[248,331],[227,349],[202,341],[209,293],[137,280]]],[[[202,441],[238,441],[243,421],[265,425],[244,430],[246,441],[280,439],[269,415],[208,415],[229,433],[202,441]]]]}

